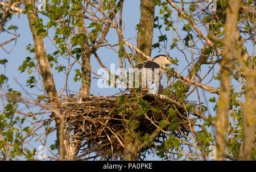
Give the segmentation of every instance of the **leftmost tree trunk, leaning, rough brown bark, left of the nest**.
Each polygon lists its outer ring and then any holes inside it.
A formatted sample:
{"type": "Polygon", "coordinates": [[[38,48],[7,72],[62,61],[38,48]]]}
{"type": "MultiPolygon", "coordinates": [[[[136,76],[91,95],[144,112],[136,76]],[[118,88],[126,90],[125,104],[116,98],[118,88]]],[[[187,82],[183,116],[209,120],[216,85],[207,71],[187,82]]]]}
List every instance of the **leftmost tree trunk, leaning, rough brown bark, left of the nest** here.
{"type": "MultiPolygon", "coordinates": [[[[51,108],[52,110],[57,110],[56,101],[59,99],[59,97],[57,95],[57,90],[53,80],[53,75],[52,75],[49,61],[47,58],[46,47],[44,46],[43,37],[37,34],[36,26],[32,24],[34,23],[34,20],[38,20],[39,22],[39,18],[35,8],[35,1],[25,0],[24,4],[28,9],[30,9],[28,6],[33,7],[32,10],[28,10],[27,16],[28,16],[28,22],[30,24],[30,30],[32,32],[32,36],[34,39],[36,59],[38,60],[40,75],[42,76],[42,79],[43,79],[44,90],[46,90],[46,93],[48,95],[49,103],[51,103],[51,108]]],[[[57,115],[57,114],[52,113],[52,115],[57,115]]],[[[61,114],[58,114],[58,115],[61,115],[61,114]]],[[[56,118],[55,123],[56,123],[56,126],[58,126],[57,140],[59,141],[59,145],[60,145],[59,146],[60,160],[67,160],[66,157],[67,157],[68,150],[65,149],[67,147],[65,147],[65,140],[64,140],[63,116],[58,116],[58,117],[59,118],[56,118]]]]}

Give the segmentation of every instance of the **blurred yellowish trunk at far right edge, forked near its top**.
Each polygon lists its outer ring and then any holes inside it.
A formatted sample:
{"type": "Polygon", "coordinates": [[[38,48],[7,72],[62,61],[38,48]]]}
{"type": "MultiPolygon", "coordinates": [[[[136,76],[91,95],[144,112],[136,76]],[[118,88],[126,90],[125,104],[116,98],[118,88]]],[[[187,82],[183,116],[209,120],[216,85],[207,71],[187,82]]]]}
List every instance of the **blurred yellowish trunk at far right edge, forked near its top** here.
{"type": "MultiPolygon", "coordinates": [[[[237,52],[237,60],[240,62],[244,75],[246,78],[246,93],[245,93],[245,104],[243,104],[243,131],[242,131],[242,146],[238,160],[250,160],[250,152],[255,142],[255,112],[256,112],[256,102],[255,102],[255,82],[256,82],[256,70],[255,64],[253,63],[252,57],[247,52],[243,41],[241,40],[240,32],[237,31],[236,34],[237,45],[240,47],[239,52],[237,52]],[[246,66],[243,61],[249,62],[246,66]]],[[[241,70],[240,70],[241,71],[241,70]]]]}

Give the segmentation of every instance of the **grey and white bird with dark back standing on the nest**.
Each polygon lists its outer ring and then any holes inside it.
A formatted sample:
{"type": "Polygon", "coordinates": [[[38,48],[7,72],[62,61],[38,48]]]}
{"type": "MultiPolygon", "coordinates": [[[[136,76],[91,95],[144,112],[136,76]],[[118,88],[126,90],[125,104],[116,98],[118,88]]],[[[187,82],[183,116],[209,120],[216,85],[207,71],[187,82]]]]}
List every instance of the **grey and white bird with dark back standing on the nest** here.
{"type": "Polygon", "coordinates": [[[160,80],[163,77],[164,64],[171,64],[170,58],[164,54],[160,54],[158,56],[155,56],[152,61],[147,61],[146,64],[144,64],[144,72],[143,72],[143,78],[146,82],[155,83],[156,85],[156,91],[151,91],[149,93],[158,93],[160,91],[159,87],[160,80]]]}

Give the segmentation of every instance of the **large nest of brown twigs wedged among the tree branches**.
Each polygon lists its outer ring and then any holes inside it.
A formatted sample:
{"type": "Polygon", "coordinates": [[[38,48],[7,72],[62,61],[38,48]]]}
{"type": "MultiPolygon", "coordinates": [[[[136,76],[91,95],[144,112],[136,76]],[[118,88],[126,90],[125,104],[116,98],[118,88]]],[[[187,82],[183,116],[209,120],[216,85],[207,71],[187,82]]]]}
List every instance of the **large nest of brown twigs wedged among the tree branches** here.
{"type": "MultiPolygon", "coordinates": [[[[61,111],[67,114],[66,137],[72,136],[73,140],[81,140],[83,137],[80,157],[100,157],[102,160],[122,157],[123,138],[127,128],[132,125],[138,126],[133,132],[145,136],[154,132],[156,125],[164,120],[165,123],[176,125],[171,128],[176,137],[188,135],[190,129],[187,113],[177,104],[161,99],[159,95],[144,95],[141,99],[122,95],[121,98],[86,97],[82,102],[72,100],[61,104],[61,111]],[[138,106],[138,101],[146,103],[146,113],[143,113],[145,107],[138,106]],[[177,113],[171,114],[170,108],[177,113]]],[[[164,137],[166,134],[162,132],[154,142],[163,141],[164,137]]]]}

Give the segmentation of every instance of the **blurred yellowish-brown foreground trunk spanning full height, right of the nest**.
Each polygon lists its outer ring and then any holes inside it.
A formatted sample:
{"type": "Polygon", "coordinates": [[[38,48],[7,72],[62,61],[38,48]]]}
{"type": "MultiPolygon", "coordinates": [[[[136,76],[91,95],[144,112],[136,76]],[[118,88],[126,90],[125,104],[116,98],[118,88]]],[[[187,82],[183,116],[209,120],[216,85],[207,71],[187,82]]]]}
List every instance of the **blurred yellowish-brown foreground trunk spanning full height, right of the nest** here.
{"type": "Polygon", "coordinates": [[[225,22],[225,39],[220,63],[220,93],[218,99],[218,112],[216,123],[217,160],[223,160],[226,148],[226,135],[228,129],[229,91],[233,73],[233,57],[235,55],[237,16],[240,9],[240,0],[228,1],[229,7],[225,22]]]}

